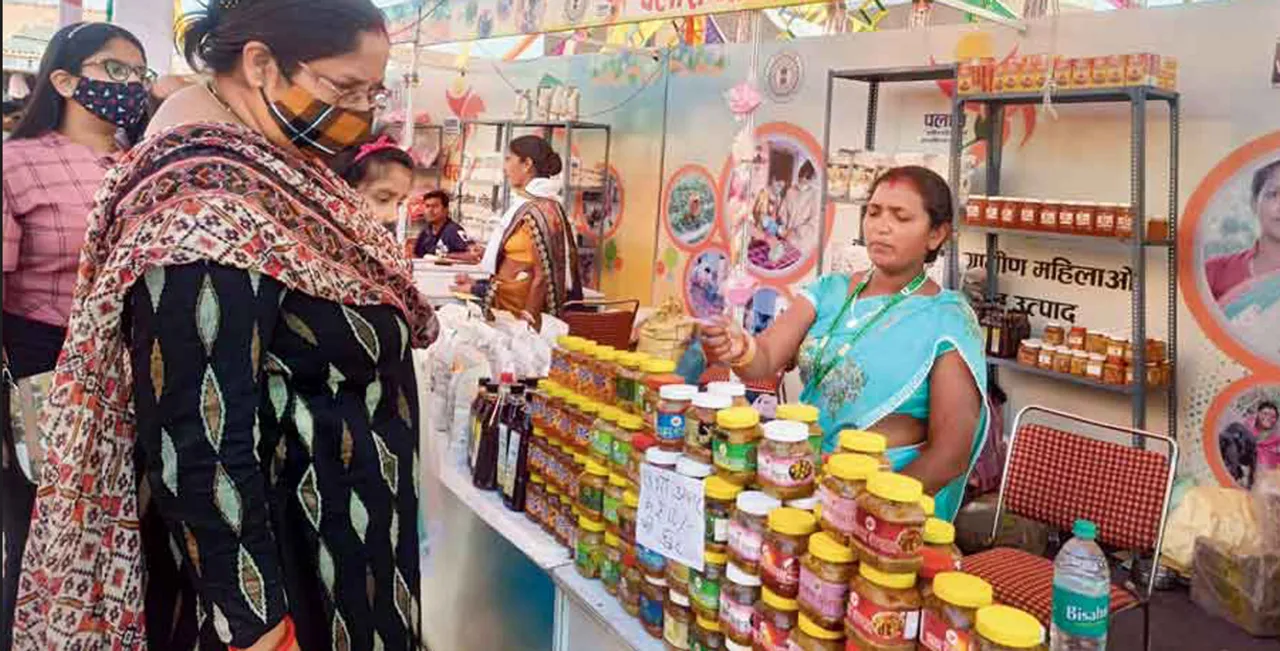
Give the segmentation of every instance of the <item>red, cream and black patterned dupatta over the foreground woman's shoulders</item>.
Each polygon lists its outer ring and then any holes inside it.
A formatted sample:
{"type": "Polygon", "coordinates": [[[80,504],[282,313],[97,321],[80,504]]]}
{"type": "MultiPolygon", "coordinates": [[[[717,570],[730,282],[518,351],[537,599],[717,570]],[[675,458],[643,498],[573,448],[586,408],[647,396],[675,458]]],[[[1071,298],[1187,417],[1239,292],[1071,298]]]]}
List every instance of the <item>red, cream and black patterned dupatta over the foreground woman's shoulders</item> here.
{"type": "Polygon", "coordinates": [[[328,168],[232,124],[183,125],[99,191],[44,427],[50,449],[23,559],[14,648],[146,646],[134,414],[122,315],[156,267],[209,261],[349,306],[399,310],[416,347],[431,308],[390,235],[328,168]]]}

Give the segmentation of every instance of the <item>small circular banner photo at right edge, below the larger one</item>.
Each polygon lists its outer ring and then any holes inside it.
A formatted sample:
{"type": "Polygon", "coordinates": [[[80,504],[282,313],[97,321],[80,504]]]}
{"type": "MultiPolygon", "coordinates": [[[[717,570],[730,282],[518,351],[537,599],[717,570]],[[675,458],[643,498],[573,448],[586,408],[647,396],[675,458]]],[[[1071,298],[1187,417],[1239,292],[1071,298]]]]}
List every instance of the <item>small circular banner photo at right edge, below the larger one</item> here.
{"type": "Polygon", "coordinates": [[[1217,395],[1204,417],[1204,459],[1224,486],[1249,489],[1280,469],[1280,379],[1249,377],[1217,395]]]}

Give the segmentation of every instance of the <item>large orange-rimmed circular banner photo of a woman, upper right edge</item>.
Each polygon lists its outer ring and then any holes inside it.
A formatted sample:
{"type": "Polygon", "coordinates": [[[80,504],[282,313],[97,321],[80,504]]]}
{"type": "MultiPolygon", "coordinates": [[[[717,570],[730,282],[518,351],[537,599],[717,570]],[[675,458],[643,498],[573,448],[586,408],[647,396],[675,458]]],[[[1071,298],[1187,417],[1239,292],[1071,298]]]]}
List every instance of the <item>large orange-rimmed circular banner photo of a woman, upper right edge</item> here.
{"type": "Polygon", "coordinates": [[[1280,132],[1222,159],[1184,224],[1179,283],[1192,315],[1242,365],[1280,370],[1280,132]]]}

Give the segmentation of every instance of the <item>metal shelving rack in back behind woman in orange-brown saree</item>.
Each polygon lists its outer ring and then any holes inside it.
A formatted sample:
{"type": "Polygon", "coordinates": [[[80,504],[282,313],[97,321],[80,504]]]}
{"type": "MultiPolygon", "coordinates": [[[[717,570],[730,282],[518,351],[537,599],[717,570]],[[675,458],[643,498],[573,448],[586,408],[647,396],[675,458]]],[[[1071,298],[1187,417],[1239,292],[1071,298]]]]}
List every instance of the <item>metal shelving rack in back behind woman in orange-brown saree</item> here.
{"type": "MultiPolygon", "coordinates": [[[[561,205],[564,206],[566,214],[572,217],[573,202],[579,194],[593,194],[599,193],[604,196],[605,207],[609,207],[609,196],[612,193],[613,176],[609,174],[609,153],[613,148],[613,127],[603,123],[590,123],[590,122],[577,122],[577,120],[564,120],[564,122],[515,122],[515,120],[467,120],[462,123],[462,152],[463,161],[466,160],[467,151],[467,133],[468,127],[492,127],[497,129],[494,138],[494,147],[498,151],[506,151],[507,145],[511,143],[512,138],[516,136],[517,130],[535,130],[539,132],[547,142],[552,145],[556,143],[554,134],[558,130],[564,132],[564,150],[559,151],[561,159],[563,159],[564,169],[561,171],[561,205]],[[573,165],[572,165],[572,152],[573,141],[579,136],[577,132],[596,132],[604,133],[604,185],[603,187],[579,187],[573,183],[573,165]]],[[[465,182],[462,178],[458,179],[458,185],[456,189],[457,194],[462,193],[462,185],[465,182]]],[[[511,201],[511,185],[506,182],[494,185],[494,210],[506,210],[507,203],[511,201]],[[499,192],[500,191],[500,196],[499,192]]],[[[461,210],[461,202],[458,202],[458,208],[461,210]]],[[[594,272],[595,286],[600,285],[600,261],[604,260],[604,223],[600,220],[599,230],[595,233],[595,248],[586,248],[579,239],[579,255],[584,263],[589,263],[594,272]]]]}

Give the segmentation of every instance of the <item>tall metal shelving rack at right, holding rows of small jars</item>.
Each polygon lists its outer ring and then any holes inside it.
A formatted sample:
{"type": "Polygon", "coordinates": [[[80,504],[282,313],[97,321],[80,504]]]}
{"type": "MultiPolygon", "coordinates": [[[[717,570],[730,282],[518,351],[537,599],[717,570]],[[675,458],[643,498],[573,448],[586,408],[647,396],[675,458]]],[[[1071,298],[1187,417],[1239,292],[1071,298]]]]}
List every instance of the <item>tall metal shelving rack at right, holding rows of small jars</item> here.
{"type": "MultiPolygon", "coordinates": [[[[1018,231],[1000,228],[980,228],[960,224],[957,228],[970,231],[980,231],[987,238],[987,298],[992,299],[998,288],[998,275],[996,272],[996,252],[998,251],[1001,235],[1053,238],[1075,244],[1110,244],[1128,249],[1129,261],[1134,270],[1134,283],[1130,292],[1130,325],[1133,331],[1133,365],[1142,372],[1134,372],[1132,385],[1103,385],[1097,381],[1073,375],[1056,373],[1043,368],[1030,368],[1019,365],[1012,359],[988,359],[995,373],[998,368],[1015,368],[1019,372],[1048,376],[1059,381],[1066,381],[1082,386],[1091,386],[1111,393],[1128,395],[1133,408],[1133,427],[1146,428],[1147,425],[1147,398],[1151,391],[1147,388],[1146,373],[1146,341],[1147,341],[1147,249],[1165,249],[1169,265],[1169,359],[1171,373],[1165,388],[1169,400],[1169,435],[1178,435],[1178,134],[1179,134],[1179,96],[1176,92],[1164,91],[1146,86],[1125,88],[1089,88],[1066,90],[1052,95],[1053,104],[1128,104],[1129,105],[1129,206],[1134,215],[1134,237],[1128,239],[1102,238],[1094,235],[1071,235],[1065,233],[1036,233],[1018,231]],[[1147,105],[1148,102],[1165,102],[1169,105],[1169,235],[1164,239],[1147,239],[1147,105]]],[[[989,111],[991,124],[1004,124],[1005,106],[1039,104],[1044,101],[1043,93],[998,93],[998,95],[966,95],[956,97],[956,115],[961,115],[965,104],[983,104],[989,111]]],[[[952,182],[959,173],[959,139],[952,141],[952,182]]],[[[1002,138],[993,137],[987,147],[987,194],[1000,194],[1000,166],[1002,161],[1002,138]]],[[[960,215],[961,211],[956,211],[960,215]]]]}

